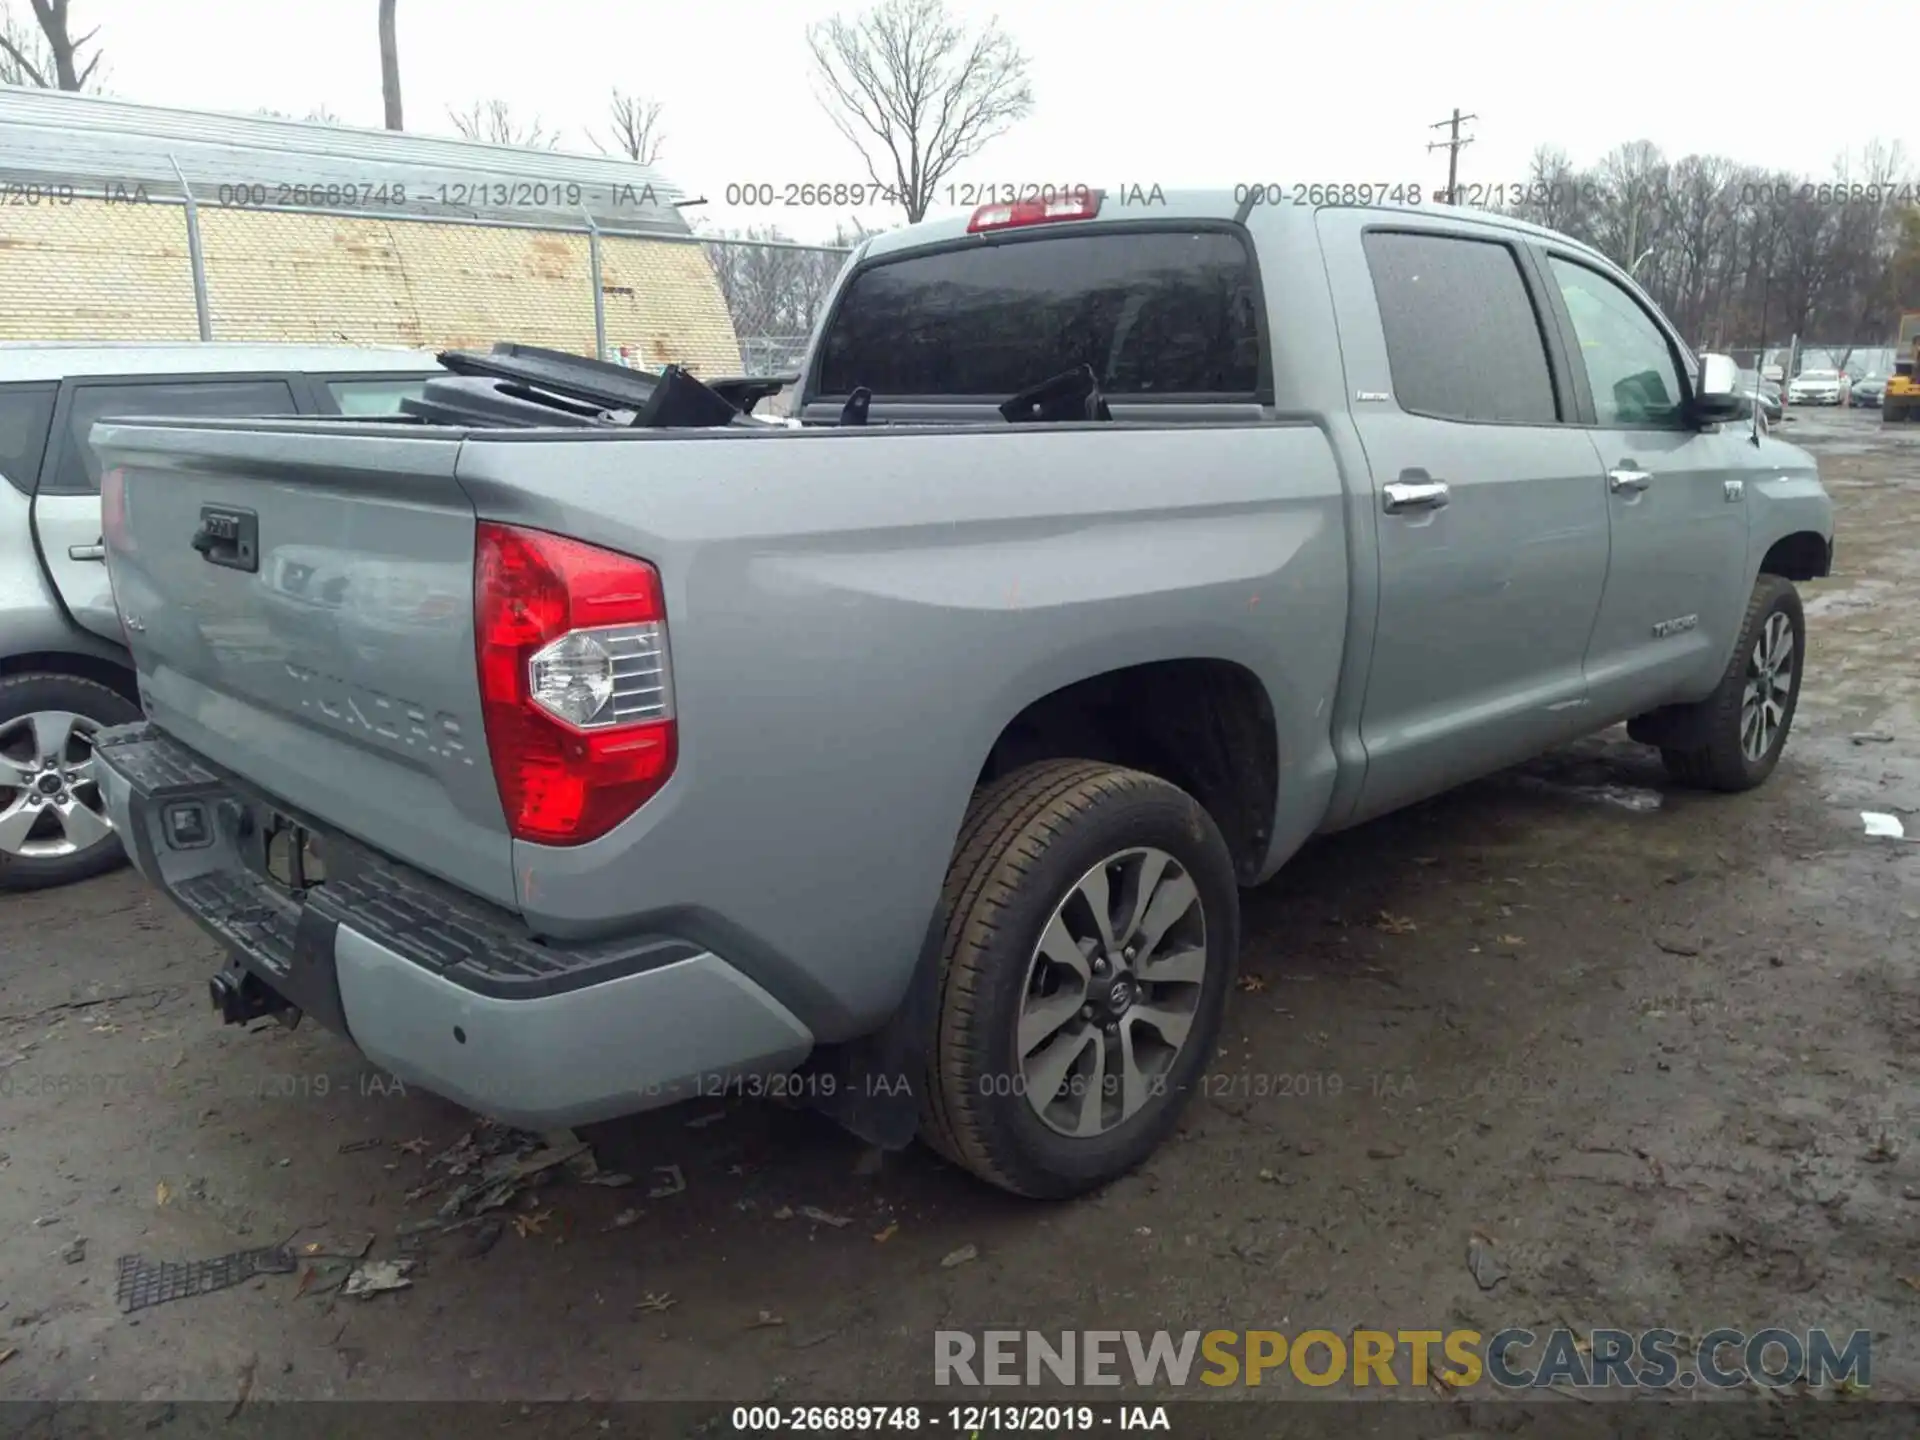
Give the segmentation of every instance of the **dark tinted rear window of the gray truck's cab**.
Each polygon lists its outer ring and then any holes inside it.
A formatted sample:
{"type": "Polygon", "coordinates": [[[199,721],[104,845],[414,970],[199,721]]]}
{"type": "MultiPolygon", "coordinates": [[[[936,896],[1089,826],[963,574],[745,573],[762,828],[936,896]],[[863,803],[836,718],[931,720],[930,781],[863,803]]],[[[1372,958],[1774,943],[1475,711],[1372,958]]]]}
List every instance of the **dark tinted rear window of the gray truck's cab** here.
{"type": "Polygon", "coordinates": [[[1260,305],[1240,236],[1054,232],[881,261],[843,292],[816,390],[1004,399],[1079,365],[1116,397],[1252,397],[1260,305]]]}

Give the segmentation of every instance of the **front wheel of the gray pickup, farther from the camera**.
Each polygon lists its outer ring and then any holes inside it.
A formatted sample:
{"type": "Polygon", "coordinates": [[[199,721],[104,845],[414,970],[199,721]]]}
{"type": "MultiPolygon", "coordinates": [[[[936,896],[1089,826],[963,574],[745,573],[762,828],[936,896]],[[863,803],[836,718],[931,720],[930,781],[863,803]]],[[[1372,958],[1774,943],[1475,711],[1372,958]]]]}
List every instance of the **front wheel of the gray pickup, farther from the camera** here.
{"type": "Polygon", "coordinates": [[[1699,743],[1663,749],[1667,772],[1703,789],[1753,789],[1780,764],[1799,703],[1807,620],[1791,580],[1763,574],[1718,687],[1686,707],[1699,743]]]}

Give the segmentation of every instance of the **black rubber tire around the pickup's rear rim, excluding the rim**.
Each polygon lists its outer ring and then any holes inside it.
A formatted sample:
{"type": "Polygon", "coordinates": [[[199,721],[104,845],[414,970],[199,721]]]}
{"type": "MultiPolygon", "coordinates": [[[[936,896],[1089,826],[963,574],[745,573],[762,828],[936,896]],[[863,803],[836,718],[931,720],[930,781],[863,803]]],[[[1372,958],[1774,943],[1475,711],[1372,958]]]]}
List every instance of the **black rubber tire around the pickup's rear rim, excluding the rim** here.
{"type": "Polygon", "coordinates": [[[1238,960],[1240,893],[1213,818],[1179,787],[1137,770],[1092,760],[1025,766],[975,793],[943,899],[924,1139],[973,1175],[1033,1198],[1091,1190],[1146,1160],[1213,1054],[1238,960]],[[1164,851],[1192,879],[1206,970],[1187,1039],[1152,1098],[1096,1137],[1069,1137],[1050,1129],[1014,1083],[995,1081],[1021,1075],[1016,1031],[1043,929],[1085,876],[1133,847],[1164,851]]]}

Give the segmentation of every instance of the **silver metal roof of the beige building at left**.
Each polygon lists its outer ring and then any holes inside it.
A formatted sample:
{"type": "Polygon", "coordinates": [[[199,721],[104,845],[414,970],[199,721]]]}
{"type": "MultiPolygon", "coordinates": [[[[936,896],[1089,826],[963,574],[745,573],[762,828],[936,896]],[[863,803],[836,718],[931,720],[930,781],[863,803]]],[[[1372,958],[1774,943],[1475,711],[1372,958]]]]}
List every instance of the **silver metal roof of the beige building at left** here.
{"type": "Polygon", "coordinates": [[[0,84],[0,186],[179,204],[180,177],[205,209],[691,234],[684,192],[632,159],[0,84]]]}

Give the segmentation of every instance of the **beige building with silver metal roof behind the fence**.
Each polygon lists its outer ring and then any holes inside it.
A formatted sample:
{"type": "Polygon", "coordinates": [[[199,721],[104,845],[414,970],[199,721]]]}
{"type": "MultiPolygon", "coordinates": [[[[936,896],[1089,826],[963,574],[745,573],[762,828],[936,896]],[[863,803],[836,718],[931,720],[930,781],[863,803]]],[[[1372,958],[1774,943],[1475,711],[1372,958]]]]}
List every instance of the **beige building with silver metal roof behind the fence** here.
{"type": "Polygon", "coordinates": [[[0,340],[200,336],[175,165],[217,340],[591,355],[591,217],[609,353],[741,369],[705,250],[645,167],[21,90],[0,92],[0,340]],[[92,129],[63,142],[75,119],[92,129]]]}

